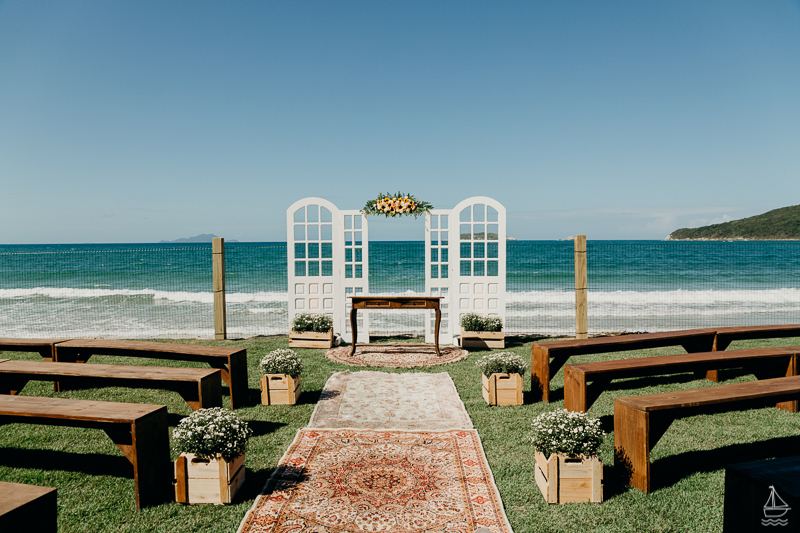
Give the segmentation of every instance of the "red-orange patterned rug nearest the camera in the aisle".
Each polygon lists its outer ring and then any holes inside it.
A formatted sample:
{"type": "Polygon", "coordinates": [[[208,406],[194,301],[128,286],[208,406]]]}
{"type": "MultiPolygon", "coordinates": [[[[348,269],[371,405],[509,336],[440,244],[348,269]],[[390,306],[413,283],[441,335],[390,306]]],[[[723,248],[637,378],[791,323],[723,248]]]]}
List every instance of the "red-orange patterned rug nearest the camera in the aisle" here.
{"type": "Polygon", "coordinates": [[[239,533],[512,533],[477,431],[301,429],[239,533]]]}

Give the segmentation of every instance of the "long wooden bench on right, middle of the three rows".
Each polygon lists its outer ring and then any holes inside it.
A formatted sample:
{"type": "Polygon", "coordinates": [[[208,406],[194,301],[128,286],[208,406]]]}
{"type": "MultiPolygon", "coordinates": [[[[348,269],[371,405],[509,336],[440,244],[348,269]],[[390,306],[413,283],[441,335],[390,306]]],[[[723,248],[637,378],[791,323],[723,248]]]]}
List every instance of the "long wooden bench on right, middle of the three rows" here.
{"type": "Polygon", "coordinates": [[[796,376],[798,354],[800,346],[792,346],[569,364],[564,366],[564,407],[569,411],[587,412],[614,379],[705,373],[720,368],[745,368],[758,379],[796,376]]]}

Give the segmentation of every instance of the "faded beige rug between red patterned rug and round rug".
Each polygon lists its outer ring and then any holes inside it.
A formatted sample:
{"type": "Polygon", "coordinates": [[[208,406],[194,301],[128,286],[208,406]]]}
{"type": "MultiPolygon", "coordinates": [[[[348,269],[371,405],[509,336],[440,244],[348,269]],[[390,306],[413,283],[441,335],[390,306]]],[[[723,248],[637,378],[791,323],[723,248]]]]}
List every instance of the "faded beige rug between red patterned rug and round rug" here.
{"type": "Polygon", "coordinates": [[[445,430],[472,421],[447,372],[345,371],[325,383],[308,427],[445,430]]]}

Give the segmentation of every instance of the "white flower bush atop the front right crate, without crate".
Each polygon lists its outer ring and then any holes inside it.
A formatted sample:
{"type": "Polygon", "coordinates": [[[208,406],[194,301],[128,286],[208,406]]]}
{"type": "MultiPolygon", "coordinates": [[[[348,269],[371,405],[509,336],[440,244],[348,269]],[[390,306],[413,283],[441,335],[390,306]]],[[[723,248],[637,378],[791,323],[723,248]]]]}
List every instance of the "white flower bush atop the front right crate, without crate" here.
{"type": "Polygon", "coordinates": [[[566,409],[539,415],[532,427],[531,442],[545,457],[554,453],[593,457],[606,435],[599,419],[566,409]]]}

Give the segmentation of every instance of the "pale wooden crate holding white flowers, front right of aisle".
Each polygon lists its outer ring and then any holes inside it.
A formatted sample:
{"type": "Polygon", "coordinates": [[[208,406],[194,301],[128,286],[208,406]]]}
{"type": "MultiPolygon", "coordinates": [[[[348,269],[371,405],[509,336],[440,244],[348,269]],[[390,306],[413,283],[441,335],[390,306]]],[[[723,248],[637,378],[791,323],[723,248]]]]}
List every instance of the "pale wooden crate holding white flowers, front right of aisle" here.
{"type": "Polygon", "coordinates": [[[536,484],[547,503],[603,501],[603,463],[600,458],[536,452],[536,484]]]}

